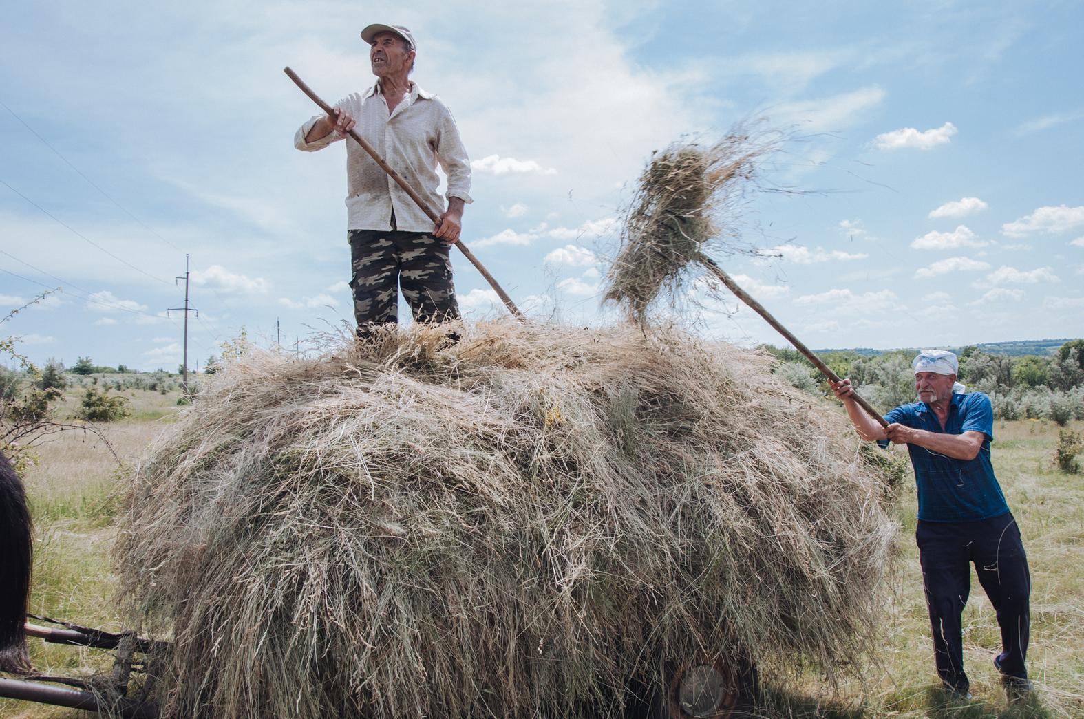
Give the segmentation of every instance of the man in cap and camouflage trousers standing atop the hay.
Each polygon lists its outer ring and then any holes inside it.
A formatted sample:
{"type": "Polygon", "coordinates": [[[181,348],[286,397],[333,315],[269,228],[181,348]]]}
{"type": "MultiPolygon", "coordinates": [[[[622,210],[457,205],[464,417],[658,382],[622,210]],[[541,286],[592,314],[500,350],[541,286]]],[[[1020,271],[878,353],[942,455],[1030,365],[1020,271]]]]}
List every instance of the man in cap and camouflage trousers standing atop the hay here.
{"type": "Polygon", "coordinates": [[[376,84],[344,98],[334,115],[318,115],[294,137],[294,146],[322,150],[356,129],[430,207],[441,207],[437,167],[448,176],[448,208],[434,227],[425,211],[357,142],[347,142],[347,236],[358,336],[398,321],[399,293],[417,322],[460,319],[451,245],[460,239],[470,200],[470,161],[455,120],[437,95],[412,82],[416,43],[401,25],[370,25],[376,84]]]}

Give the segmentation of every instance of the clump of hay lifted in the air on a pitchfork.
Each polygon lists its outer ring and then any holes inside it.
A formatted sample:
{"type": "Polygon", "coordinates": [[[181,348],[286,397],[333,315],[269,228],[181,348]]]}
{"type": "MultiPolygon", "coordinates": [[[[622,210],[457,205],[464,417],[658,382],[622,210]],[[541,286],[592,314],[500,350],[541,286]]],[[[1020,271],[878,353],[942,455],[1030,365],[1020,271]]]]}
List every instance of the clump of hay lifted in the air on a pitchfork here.
{"type": "Polygon", "coordinates": [[[700,272],[709,249],[738,251],[740,205],[761,189],[759,165],[780,144],[777,133],[738,126],[712,144],[676,142],[655,153],[630,203],[604,301],[644,324],[660,294],[676,297],[686,275],[700,272]]]}

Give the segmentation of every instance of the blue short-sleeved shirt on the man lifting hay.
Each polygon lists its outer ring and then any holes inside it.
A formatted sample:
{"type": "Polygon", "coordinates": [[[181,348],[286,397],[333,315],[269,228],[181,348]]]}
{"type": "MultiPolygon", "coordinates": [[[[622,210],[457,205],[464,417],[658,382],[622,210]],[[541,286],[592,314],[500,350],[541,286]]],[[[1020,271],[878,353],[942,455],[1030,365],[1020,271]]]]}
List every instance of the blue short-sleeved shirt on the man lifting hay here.
{"type": "MultiPolygon", "coordinates": [[[[924,522],[975,522],[1001,516],[1009,511],[1005,495],[990,462],[990,442],[994,439],[994,411],[990,398],[981,391],[953,393],[945,426],[925,402],[895,408],[885,415],[915,429],[962,435],[981,432],[982,449],[973,460],[954,460],[918,445],[907,445],[911,464],[918,485],[918,518],[924,522]]],[[[888,445],[888,440],[881,442],[888,445]]]]}

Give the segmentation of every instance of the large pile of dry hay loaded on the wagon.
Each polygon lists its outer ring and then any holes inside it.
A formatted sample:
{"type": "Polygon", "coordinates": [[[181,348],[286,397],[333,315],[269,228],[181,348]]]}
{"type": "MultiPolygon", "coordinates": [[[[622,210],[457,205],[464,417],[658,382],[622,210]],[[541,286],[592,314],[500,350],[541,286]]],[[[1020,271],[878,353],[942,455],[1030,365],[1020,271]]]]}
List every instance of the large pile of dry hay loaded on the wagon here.
{"type": "MultiPolygon", "coordinates": [[[[495,322],[235,362],[117,545],[170,716],[578,716],[659,657],[870,645],[885,471],[769,359],[495,322]]],[[[709,659],[710,660],[710,659],[709,659]]]]}

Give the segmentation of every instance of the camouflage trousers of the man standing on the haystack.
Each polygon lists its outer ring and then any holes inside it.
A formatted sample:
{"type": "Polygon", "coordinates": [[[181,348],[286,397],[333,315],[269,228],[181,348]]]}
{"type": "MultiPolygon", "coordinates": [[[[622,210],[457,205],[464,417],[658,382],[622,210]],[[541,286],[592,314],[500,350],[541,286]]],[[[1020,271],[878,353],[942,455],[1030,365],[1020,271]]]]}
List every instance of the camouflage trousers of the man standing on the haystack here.
{"type": "Polygon", "coordinates": [[[448,244],[428,232],[350,230],[347,235],[359,335],[399,321],[399,287],[415,322],[460,319],[448,244]]]}

